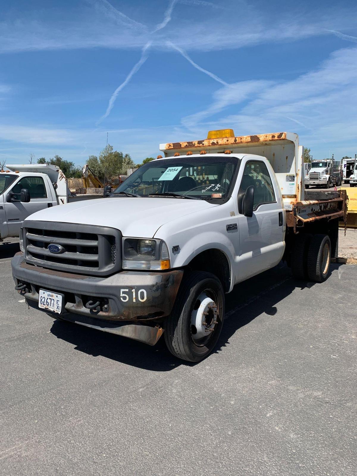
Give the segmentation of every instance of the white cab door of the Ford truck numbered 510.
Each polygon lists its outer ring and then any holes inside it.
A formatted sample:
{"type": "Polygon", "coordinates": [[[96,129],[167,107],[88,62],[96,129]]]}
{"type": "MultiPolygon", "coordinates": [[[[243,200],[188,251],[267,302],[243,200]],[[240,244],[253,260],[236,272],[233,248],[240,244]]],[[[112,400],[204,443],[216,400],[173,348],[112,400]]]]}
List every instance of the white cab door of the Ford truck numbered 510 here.
{"type": "Polygon", "coordinates": [[[239,242],[236,282],[277,265],[284,253],[285,211],[273,169],[267,159],[242,159],[238,191],[239,242]],[[242,198],[254,187],[253,216],[245,217],[242,198]]]}

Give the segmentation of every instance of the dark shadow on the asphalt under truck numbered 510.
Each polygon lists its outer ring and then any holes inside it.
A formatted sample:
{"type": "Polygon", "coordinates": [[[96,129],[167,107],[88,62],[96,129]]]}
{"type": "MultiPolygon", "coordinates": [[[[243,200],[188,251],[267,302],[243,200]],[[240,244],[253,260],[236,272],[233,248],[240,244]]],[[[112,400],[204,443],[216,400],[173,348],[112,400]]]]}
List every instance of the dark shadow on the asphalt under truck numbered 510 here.
{"type": "MultiPolygon", "coordinates": [[[[331,264],[330,274],[339,266],[341,266],[339,263],[331,264]]],[[[282,263],[235,286],[226,296],[225,322],[214,352],[217,353],[226,347],[230,337],[256,317],[264,313],[274,316],[277,313],[278,303],[288,297],[295,288],[312,286],[319,284],[295,281],[290,269],[282,263]]],[[[77,350],[93,357],[101,355],[146,370],[167,372],[179,365],[197,365],[172,356],[162,337],[156,346],[151,347],[125,337],[60,320],[53,322],[51,332],[76,346],[77,350]]]]}

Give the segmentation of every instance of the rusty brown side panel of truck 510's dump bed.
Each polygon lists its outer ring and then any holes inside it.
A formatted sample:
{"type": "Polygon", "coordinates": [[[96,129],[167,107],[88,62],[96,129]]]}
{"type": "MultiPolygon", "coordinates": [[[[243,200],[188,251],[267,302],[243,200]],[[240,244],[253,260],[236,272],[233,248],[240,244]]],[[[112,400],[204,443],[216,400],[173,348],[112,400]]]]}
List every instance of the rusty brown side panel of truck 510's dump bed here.
{"type": "MultiPolygon", "coordinates": [[[[321,192],[323,194],[324,192],[321,192]]],[[[287,226],[297,233],[298,228],[302,228],[307,223],[316,222],[321,219],[338,218],[346,223],[347,218],[347,193],[346,190],[336,192],[326,192],[326,198],[315,200],[302,200],[297,202],[291,211],[286,212],[287,226]],[[333,196],[334,198],[330,198],[333,196]]]]}

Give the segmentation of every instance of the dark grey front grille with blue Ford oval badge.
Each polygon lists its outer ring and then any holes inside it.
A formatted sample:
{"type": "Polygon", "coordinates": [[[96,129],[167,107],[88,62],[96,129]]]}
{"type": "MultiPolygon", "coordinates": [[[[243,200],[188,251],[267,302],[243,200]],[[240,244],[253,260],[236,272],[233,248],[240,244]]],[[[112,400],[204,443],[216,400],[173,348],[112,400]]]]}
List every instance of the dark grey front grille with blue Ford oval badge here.
{"type": "Polygon", "coordinates": [[[26,262],[43,268],[105,276],[121,268],[121,233],[109,227],[74,223],[24,222],[26,262]],[[60,246],[60,253],[48,249],[60,246]]]}

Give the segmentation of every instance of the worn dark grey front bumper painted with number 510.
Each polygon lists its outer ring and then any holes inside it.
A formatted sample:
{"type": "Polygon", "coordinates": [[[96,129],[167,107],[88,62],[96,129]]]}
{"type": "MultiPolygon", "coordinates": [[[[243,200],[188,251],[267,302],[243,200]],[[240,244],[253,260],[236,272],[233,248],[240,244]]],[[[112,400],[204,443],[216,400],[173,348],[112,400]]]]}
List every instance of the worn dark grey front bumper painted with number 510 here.
{"type": "Polygon", "coordinates": [[[40,309],[40,288],[59,292],[64,295],[60,317],[73,320],[80,315],[83,322],[75,320],[79,324],[88,325],[83,320],[88,318],[88,322],[94,324],[104,320],[109,327],[124,321],[155,322],[168,316],[183,276],[183,270],[177,269],[167,272],[121,271],[107,278],[91,277],[27,264],[22,253],[15,255],[11,267],[16,286],[25,286],[19,293],[31,307],[40,309]],[[86,307],[90,301],[99,301],[100,304],[90,309],[86,307]]]}

